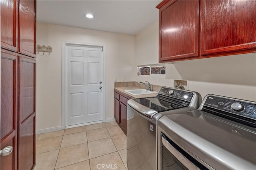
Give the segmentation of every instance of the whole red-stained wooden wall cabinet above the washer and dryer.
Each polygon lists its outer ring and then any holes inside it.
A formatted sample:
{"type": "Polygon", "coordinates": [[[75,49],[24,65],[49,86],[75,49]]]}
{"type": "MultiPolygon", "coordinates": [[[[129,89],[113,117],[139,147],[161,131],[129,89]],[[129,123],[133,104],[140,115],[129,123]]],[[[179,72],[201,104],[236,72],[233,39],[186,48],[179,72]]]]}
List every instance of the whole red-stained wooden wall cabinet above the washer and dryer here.
{"type": "Polygon", "coordinates": [[[156,8],[159,63],[256,52],[255,0],[173,0],[156,8]]]}

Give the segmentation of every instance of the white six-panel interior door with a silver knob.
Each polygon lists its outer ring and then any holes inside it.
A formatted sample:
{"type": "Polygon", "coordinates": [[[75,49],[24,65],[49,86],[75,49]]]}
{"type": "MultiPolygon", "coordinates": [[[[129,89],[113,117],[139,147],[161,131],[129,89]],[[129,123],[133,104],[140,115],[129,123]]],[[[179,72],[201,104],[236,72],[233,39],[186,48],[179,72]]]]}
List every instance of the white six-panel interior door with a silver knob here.
{"type": "Polygon", "coordinates": [[[102,120],[102,47],[66,45],[66,126],[102,120]]]}

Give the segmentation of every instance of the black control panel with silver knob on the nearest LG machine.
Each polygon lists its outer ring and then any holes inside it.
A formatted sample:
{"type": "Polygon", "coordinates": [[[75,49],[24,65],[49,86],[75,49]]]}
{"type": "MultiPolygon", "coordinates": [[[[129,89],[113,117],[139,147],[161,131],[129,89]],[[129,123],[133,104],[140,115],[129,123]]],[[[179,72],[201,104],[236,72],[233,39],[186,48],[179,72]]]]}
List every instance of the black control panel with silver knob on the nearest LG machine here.
{"type": "Polygon", "coordinates": [[[256,119],[256,103],[254,102],[213,95],[207,96],[204,106],[256,119]]]}

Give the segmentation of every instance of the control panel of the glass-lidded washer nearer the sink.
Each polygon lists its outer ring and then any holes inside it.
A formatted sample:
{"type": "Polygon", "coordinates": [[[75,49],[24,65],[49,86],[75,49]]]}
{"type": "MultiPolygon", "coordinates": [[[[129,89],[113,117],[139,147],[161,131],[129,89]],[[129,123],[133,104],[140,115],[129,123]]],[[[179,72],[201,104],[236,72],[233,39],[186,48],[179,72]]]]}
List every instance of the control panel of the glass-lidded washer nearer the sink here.
{"type": "Polygon", "coordinates": [[[176,88],[166,88],[166,87],[162,87],[158,94],[162,94],[164,96],[177,98],[181,100],[186,100],[188,102],[191,102],[193,97],[192,92],[186,92],[184,90],[178,90],[176,88]]]}

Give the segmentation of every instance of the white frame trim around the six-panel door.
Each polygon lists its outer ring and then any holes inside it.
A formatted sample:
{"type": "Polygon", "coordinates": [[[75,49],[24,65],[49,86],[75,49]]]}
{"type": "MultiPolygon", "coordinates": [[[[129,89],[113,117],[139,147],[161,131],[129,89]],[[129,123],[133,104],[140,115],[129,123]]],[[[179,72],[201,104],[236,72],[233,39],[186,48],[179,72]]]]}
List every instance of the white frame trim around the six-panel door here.
{"type": "Polygon", "coordinates": [[[66,86],[65,86],[65,65],[66,65],[66,45],[84,45],[84,46],[91,46],[91,47],[101,47],[103,48],[103,88],[102,88],[102,121],[96,121],[93,123],[82,123],[78,125],[71,125],[71,127],[78,127],[83,125],[90,125],[94,123],[101,123],[106,121],[106,45],[102,44],[95,44],[95,43],[81,43],[81,42],[73,42],[73,41],[64,41],[62,40],[62,125],[61,128],[66,129],[66,109],[65,109],[65,98],[66,98],[66,86]]]}

